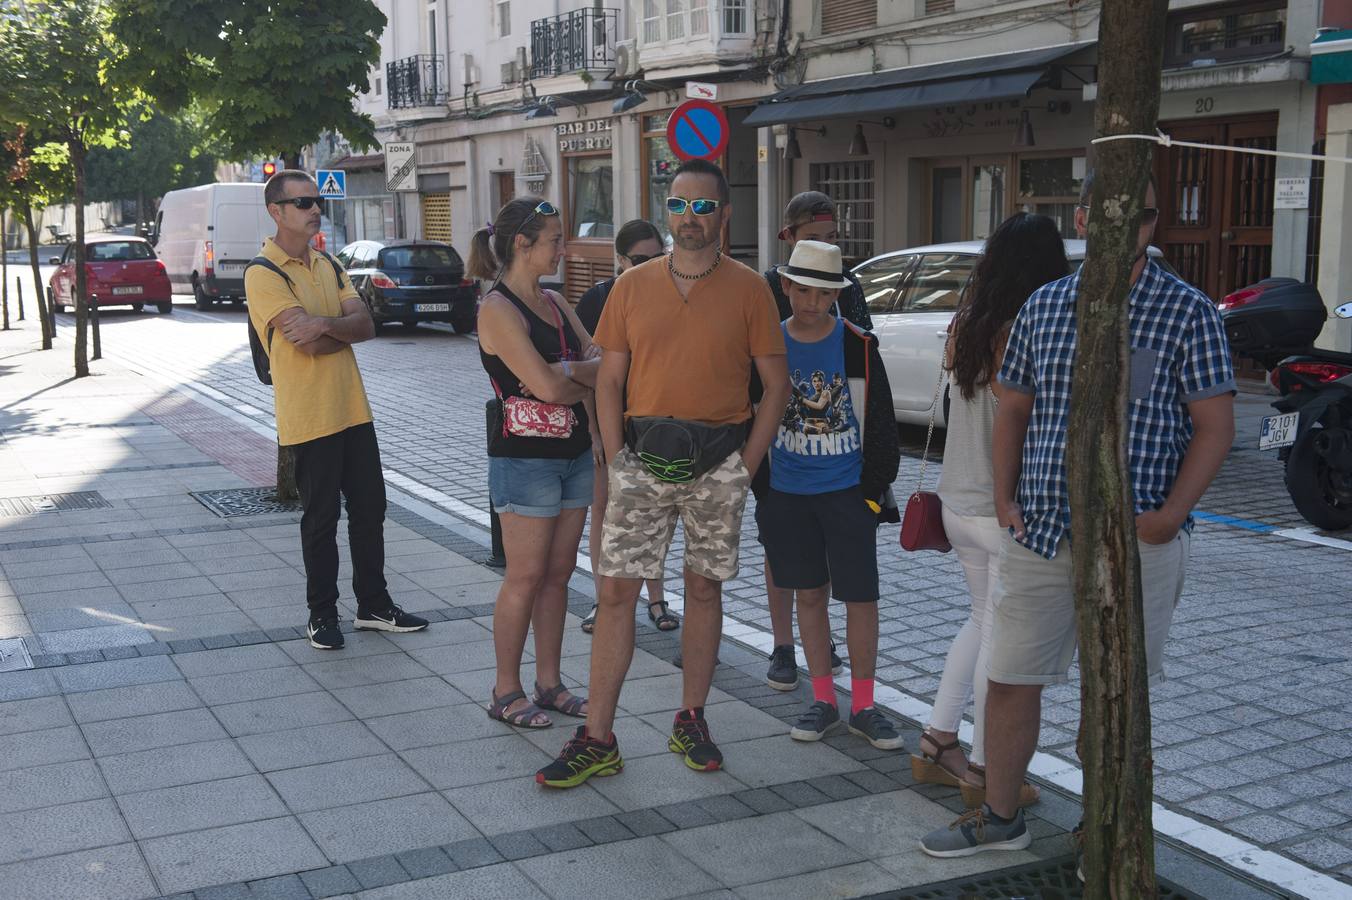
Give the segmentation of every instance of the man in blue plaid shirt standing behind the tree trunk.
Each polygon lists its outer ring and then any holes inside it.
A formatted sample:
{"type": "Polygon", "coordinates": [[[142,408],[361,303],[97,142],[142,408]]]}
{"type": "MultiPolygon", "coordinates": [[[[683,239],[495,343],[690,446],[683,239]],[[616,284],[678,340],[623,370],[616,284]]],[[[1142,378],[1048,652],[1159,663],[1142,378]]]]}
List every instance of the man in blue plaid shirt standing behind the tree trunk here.
{"type": "MultiPolygon", "coordinates": [[[[1076,226],[1083,230],[1091,178],[1076,226]]],[[[1163,673],[1164,641],[1183,591],[1191,511],[1234,438],[1234,373],[1211,301],[1146,255],[1159,218],[1155,185],[1132,268],[1128,465],[1136,507],[1146,668],[1163,673]]],[[[1037,747],[1042,688],[1067,680],[1076,620],[1065,482],[1079,273],[1036,291],[1014,322],[995,415],[995,511],[1013,541],[1000,555],[986,697],[986,805],[923,838],[930,855],[1021,850],[1018,808],[1037,747]],[[1015,485],[1018,488],[1015,495],[1015,485]]]]}

